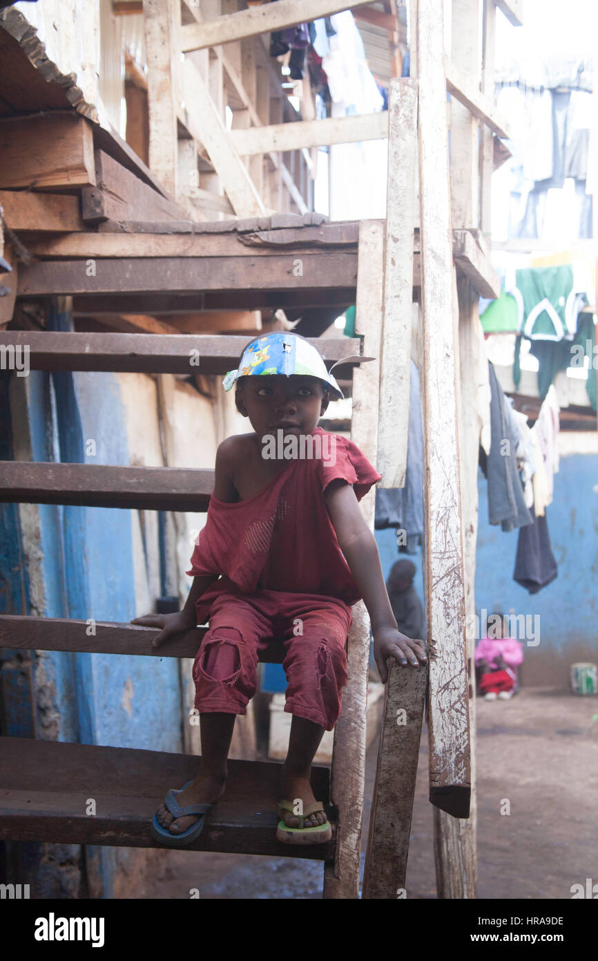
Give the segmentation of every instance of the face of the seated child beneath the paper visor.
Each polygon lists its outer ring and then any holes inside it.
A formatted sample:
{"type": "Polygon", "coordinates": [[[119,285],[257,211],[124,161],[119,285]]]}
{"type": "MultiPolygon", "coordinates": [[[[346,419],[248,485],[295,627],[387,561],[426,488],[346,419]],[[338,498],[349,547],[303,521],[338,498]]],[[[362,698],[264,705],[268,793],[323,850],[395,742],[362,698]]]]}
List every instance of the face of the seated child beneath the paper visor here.
{"type": "Polygon", "coordinates": [[[236,392],[237,409],[249,417],[253,430],[264,436],[311,433],[328,407],[323,383],[316,377],[270,374],[246,377],[236,392]]]}

